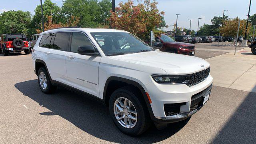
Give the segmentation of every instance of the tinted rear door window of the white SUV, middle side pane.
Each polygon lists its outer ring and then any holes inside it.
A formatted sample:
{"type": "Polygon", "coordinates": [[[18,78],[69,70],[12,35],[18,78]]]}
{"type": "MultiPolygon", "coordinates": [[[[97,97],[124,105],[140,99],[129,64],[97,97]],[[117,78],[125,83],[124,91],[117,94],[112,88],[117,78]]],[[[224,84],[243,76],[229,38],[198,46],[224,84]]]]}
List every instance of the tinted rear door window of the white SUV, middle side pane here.
{"type": "Polygon", "coordinates": [[[56,33],[53,49],[68,51],[70,32],[58,32],[56,33]]]}

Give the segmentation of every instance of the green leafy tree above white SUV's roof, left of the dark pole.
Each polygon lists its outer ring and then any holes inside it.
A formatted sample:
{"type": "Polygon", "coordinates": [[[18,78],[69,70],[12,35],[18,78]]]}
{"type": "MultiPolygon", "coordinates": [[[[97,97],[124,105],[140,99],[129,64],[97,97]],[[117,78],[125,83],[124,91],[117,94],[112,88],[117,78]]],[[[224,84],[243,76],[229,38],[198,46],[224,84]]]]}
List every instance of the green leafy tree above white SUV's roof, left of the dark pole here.
{"type": "Polygon", "coordinates": [[[80,18],[79,26],[98,27],[108,24],[106,18],[110,16],[111,0],[64,0],[63,14],[80,18]]]}

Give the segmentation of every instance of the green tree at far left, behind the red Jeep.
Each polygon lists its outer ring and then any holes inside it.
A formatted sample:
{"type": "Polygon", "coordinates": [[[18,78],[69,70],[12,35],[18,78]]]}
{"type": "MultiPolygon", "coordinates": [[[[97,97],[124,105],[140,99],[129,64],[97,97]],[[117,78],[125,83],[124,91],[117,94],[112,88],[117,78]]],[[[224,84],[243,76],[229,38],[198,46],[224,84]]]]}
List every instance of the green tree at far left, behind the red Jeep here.
{"type": "Polygon", "coordinates": [[[22,33],[27,34],[31,22],[30,12],[10,10],[0,15],[0,34],[22,33]]]}

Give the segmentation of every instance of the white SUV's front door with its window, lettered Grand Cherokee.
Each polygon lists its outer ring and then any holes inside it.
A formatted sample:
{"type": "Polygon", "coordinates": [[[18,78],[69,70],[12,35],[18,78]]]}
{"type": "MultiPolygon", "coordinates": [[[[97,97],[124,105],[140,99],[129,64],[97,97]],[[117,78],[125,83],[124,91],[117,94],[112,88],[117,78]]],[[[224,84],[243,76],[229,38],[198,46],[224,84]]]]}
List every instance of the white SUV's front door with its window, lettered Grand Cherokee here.
{"type": "Polygon", "coordinates": [[[100,56],[78,54],[79,46],[95,46],[82,32],[72,32],[70,52],[66,53],[66,70],[69,85],[78,90],[99,97],[98,71],[100,56]]]}

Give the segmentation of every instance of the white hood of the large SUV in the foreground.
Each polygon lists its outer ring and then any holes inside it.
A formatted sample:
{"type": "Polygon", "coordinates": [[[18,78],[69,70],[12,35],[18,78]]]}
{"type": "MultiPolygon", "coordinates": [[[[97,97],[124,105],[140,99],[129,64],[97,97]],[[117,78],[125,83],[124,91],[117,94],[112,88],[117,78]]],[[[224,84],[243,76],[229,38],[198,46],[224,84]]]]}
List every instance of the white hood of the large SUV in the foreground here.
{"type": "MultiPolygon", "coordinates": [[[[160,68],[169,75],[192,74],[210,66],[210,64],[202,58],[161,51],[125,54],[120,56],[111,56],[111,58],[160,68]]],[[[154,74],[154,72],[150,73],[154,74]]]]}

